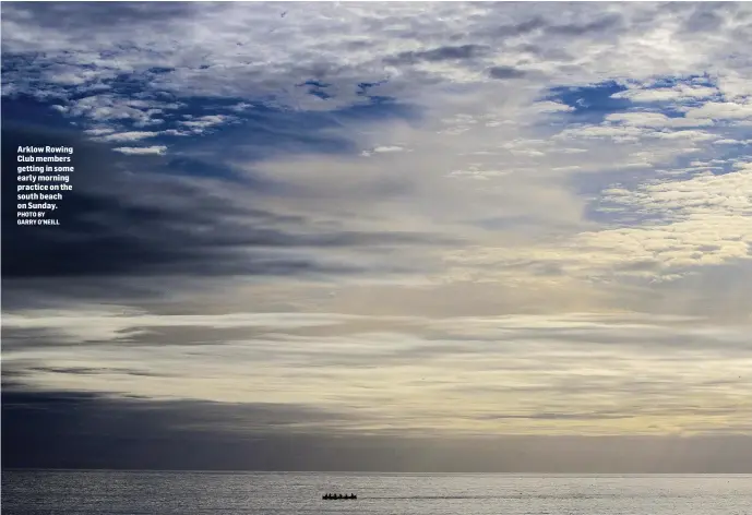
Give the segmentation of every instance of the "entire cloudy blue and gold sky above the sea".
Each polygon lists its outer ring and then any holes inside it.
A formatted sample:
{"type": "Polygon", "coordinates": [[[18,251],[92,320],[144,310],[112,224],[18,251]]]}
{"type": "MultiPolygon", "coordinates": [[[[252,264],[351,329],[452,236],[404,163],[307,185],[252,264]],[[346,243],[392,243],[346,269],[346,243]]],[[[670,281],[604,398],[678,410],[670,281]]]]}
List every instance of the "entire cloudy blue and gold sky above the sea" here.
{"type": "Polygon", "coordinates": [[[1,9],[3,467],[752,471],[750,4],[1,9]]]}

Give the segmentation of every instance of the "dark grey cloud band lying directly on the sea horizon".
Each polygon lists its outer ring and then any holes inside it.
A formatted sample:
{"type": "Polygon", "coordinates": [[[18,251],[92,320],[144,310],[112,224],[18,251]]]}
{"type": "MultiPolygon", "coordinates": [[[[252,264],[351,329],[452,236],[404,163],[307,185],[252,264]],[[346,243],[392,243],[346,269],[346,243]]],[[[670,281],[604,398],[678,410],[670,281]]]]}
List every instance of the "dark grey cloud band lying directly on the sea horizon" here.
{"type": "Polygon", "coordinates": [[[749,472],[752,464],[749,435],[366,436],[334,429],[357,414],[305,406],[12,387],[2,418],[3,468],[749,472]]]}

